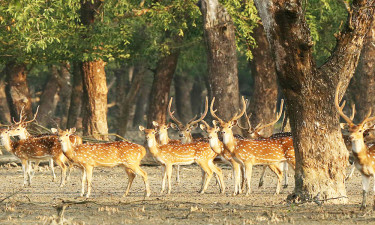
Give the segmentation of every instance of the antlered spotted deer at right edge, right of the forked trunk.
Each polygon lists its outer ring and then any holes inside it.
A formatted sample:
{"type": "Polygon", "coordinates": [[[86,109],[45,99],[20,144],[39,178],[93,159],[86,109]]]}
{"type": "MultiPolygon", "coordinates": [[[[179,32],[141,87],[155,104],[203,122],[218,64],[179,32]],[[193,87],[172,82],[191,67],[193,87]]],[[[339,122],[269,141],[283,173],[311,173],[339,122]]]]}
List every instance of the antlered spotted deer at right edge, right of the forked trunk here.
{"type": "MultiPolygon", "coordinates": [[[[349,139],[352,145],[354,165],[362,175],[362,204],[361,209],[366,208],[366,197],[369,191],[370,178],[375,177],[375,146],[367,147],[364,141],[363,133],[369,128],[368,123],[375,120],[375,116],[371,116],[370,109],[362,122],[355,124],[353,119],[349,118],[343,112],[343,107],[339,104],[339,89],[341,82],[337,85],[335,93],[335,107],[339,115],[346,121],[348,125],[349,139]]],[[[354,116],[353,116],[354,118],[354,116]]],[[[375,185],[374,185],[375,191],[375,185]]],[[[374,205],[375,209],[375,196],[374,205]]]]}

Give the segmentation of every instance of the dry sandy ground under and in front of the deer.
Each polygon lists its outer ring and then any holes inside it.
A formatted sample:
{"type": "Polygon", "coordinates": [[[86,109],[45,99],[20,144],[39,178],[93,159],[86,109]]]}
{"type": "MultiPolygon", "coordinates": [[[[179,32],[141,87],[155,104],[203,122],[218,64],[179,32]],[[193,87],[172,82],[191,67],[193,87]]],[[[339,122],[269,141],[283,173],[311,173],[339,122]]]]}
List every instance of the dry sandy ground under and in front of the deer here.
{"type": "MultiPolygon", "coordinates": [[[[93,193],[90,199],[80,198],[81,172],[75,169],[63,188],[52,182],[44,166],[32,180],[32,186],[22,188],[21,167],[3,165],[0,168],[0,224],[354,224],[375,222],[369,207],[359,210],[361,179],[358,172],[348,182],[347,205],[314,203],[287,204],[293,191],[293,172],[289,172],[289,187],[275,196],[275,175],[267,170],[265,187],[258,188],[261,167],[255,167],[250,196],[232,196],[231,169],[220,165],[225,175],[226,194],[219,194],[211,180],[206,194],[198,194],[201,171],[196,165],[181,167],[182,183],[174,181],[172,194],[160,195],[161,172],[158,166],[143,166],[149,176],[152,195],[144,198],[144,185],[136,177],[131,193],[121,198],[127,178],[122,168],[94,170],[93,193]],[[64,208],[64,210],[61,210],[64,208]]],[[[56,167],[59,178],[60,170],[56,167]]],[[[175,174],[175,173],[174,173],[175,174]]],[[[371,197],[368,202],[372,203],[371,197]]]]}

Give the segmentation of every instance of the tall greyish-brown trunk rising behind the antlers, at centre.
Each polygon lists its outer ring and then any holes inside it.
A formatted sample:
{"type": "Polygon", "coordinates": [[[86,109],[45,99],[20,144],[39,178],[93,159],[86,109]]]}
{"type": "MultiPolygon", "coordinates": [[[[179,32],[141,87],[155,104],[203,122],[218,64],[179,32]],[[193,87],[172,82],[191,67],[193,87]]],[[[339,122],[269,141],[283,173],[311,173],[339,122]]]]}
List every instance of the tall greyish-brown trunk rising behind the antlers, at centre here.
{"type": "MultiPolygon", "coordinates": [[[[234,25],[218,0],[202,0],[207,46],[208,80],[217,114],[229,120],[239,110],[237,52],[234,25]]],[[[239,132],[239,129],[235,130],[239,132]]]]}

